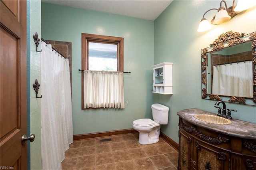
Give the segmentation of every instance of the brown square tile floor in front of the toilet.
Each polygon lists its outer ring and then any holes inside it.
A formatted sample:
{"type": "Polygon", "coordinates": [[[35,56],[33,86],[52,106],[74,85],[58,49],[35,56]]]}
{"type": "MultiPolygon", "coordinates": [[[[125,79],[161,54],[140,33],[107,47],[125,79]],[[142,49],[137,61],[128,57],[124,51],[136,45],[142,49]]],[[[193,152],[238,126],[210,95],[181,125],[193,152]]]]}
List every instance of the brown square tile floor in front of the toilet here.
{"type": "Polygon", "coordinates": [[[74,141],[62,170],[177,170],[178,152],[161,137],[142,145],[138,133],[74,141]],[[100,142],[100,139],[112,141],[100,142]]]}

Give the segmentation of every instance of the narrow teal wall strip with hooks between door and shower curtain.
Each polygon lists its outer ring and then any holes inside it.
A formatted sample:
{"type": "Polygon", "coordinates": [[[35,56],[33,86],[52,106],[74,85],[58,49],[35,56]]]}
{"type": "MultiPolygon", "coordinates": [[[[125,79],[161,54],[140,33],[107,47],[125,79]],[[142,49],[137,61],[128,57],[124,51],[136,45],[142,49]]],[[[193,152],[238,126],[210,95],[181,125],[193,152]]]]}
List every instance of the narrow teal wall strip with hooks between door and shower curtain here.
{"type": "MultiPolygon", "coordinates": [[[[28,144],[28,169],[41,169],[41,99],[36,99],[36,93],[32,86],[35,79],[40,83],[40,55],[36,52],[33,34],[41,35],[41,1],[27,1],[27,109],[28,109],[28,135],[35,134],[34,142],[28,144]],[[30,161],[29,161],[30,160],[30,161]]],[[[40,51],[40,44],[38,46],[40,51]]],[[[40,96],[40,89],[38,95],[40,96]]]]}

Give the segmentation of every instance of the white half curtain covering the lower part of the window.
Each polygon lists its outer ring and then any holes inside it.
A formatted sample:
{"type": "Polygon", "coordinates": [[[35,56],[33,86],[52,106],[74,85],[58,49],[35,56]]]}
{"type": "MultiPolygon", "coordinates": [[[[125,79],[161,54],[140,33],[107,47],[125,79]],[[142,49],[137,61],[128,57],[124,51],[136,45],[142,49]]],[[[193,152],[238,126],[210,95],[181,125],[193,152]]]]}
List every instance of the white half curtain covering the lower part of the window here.
{"type": "Polygon", "coordinates": [[[84,70],[84,109],[124,109],[124,73],[84,70]]]}

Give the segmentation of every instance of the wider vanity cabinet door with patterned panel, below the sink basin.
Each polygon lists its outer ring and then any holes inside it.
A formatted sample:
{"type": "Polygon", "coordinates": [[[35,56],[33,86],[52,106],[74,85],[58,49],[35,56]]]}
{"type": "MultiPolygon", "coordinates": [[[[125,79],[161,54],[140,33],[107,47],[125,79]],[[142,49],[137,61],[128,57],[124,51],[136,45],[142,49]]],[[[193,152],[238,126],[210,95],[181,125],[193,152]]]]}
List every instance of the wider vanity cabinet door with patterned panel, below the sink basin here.
{"type": "Polygon", "coordinates": [[[228,170],[229,151],[194,139],[194,170],[228,170]]]}

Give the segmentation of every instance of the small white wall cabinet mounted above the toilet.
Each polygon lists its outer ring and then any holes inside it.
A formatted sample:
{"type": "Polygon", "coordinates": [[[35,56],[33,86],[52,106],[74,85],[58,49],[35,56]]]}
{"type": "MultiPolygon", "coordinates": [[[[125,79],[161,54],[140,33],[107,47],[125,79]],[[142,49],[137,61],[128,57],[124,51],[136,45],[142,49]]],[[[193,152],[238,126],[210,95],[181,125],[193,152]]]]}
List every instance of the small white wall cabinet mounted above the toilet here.
{"type": "Polygon", "coordinates": [[[172,64],[160,63],[153,67],[153,93],[172,94],[172,64]]]}

